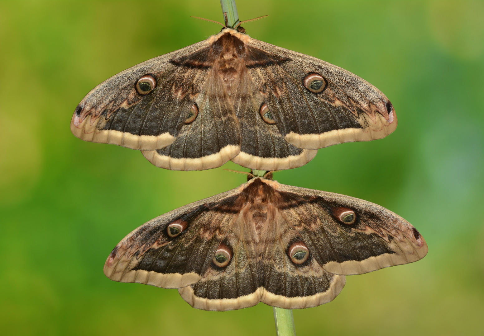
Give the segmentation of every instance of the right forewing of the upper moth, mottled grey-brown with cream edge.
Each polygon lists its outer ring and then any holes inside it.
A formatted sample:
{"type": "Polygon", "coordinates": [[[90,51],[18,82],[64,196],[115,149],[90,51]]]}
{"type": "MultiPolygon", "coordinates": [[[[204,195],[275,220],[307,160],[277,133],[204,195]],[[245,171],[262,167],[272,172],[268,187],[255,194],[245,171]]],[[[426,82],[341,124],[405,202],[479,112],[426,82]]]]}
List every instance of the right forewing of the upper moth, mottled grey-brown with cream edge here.
{"type": "Polygon", "coordinates": [[[250,69],[287,142],[299,148],[322,148],[368,141],[396,128],[391,102],[373,85],[333,64],[252,40],[257,47],[291,60],[250,69]],[[311,92],[304,79],[321,75],[321,92],[311,92]]]}

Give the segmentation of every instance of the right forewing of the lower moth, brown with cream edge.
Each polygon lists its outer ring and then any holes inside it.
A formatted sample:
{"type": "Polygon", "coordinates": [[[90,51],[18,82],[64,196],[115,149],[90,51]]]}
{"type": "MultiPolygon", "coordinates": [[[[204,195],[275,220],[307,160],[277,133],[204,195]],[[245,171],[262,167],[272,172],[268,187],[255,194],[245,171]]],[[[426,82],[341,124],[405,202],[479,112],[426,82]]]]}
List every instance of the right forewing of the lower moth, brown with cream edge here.
{"type": "Polygon", "coordinates": [[[281,191],[292,200],[291,206],[281,206],[287,221],[328,272],[362,274],[427,254],[422,235],[382,206],[319,190],[283,185],[281,191]]]}

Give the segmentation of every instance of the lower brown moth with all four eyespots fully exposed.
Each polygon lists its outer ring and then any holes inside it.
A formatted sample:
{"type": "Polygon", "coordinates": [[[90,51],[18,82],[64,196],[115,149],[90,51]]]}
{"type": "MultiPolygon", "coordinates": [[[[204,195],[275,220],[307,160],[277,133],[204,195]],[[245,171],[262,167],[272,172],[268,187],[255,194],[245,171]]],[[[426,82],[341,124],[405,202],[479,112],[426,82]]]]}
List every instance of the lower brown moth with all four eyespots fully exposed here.
{"type": "Polygon", "coordinates": [[[412,263],[428,251],[382,206],[249,174],[239,188],[182,206],[128,234],[104,265],[115,281],[178,288],[204,310],[315,307],[345,275],[412,263]]]}

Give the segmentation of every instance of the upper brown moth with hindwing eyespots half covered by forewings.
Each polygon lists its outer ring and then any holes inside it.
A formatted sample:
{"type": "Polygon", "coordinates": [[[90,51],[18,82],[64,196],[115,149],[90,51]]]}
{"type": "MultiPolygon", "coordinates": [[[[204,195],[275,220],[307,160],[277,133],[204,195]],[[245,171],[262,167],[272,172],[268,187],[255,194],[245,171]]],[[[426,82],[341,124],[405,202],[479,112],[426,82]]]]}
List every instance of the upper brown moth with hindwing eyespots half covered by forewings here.
{"type": "Polygon", "coordinates": [[[82,140],[141,150],[158,167],[257,170],[311,161],[317,149],[395,130],[392,103],[328,62],[222,29],[93,88],[76,107],[82,140]]]}

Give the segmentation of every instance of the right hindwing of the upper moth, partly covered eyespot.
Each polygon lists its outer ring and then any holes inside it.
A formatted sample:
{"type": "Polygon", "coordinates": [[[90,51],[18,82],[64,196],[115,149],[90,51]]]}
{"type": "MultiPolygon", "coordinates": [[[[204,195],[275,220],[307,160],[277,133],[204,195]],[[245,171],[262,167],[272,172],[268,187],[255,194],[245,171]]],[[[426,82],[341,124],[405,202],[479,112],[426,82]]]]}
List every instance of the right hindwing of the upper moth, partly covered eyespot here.
{"type": "Polygon", "coordinates": [[[261,109],[264,113],[270,111],[263,108],[264,99],[248,72],[242,75],[232,99],[242,137],[241,152],[232,161],[243,167],[272,171],[300,167],[316,156],[316,150],[288,144],[275,124],[262,119],[261,109]]]}

